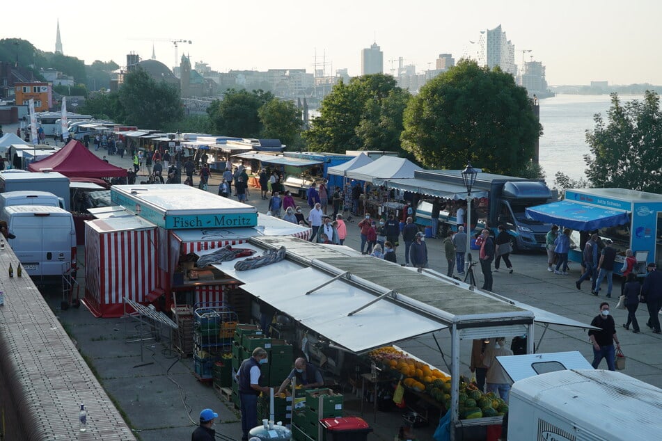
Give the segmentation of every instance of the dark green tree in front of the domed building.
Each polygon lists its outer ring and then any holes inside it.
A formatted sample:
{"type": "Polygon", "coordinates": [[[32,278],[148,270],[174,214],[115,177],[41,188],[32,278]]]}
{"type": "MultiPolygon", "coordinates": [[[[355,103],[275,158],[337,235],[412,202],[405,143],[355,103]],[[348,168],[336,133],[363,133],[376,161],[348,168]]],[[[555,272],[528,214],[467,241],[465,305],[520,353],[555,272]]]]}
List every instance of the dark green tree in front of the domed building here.
{"type": "Polygon", "coordinates": [[[125,75],[119,97],[126,120],[132,125],[161,129],[184,118],[179,90],[165,81],[157,83],[143,69],[125,75]]]}

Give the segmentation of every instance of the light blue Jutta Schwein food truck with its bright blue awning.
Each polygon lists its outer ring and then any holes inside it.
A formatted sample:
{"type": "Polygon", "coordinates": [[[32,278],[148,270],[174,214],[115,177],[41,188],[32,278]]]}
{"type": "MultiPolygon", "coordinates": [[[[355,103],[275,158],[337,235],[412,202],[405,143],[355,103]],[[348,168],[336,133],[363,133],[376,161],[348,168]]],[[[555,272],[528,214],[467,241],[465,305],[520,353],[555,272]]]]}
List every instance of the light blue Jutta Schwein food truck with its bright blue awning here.
{"type": "MultiPolygon", "coordinates": [[[[613,241],[617,262],[631,249],[638,272],[647,263],[662,264],[662,195],[629,189],[569,189],[565,199],[526,209],[526,215],[542,222],[572,229],[569,259],[581,262],[581,250],[589,232],[613,241]],[[582,234],[584,233],[584,234],[582,234]]],[[[621,265],[614,268],[620,274],[621,265]]]]}

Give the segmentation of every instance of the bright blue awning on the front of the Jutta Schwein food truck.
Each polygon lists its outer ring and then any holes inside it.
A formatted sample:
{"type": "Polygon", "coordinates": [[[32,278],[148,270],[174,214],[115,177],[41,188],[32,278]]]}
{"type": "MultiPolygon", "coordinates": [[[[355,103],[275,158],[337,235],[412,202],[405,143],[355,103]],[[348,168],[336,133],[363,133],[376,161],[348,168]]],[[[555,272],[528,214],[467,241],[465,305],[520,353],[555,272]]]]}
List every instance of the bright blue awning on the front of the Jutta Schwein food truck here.
{"type": "Polygon", "coordinates": [[[526,209],[526,217],[544,223],[555,223],[578,231],[592,231],[630,222],[627,211],[560,200],[526,209]]]}

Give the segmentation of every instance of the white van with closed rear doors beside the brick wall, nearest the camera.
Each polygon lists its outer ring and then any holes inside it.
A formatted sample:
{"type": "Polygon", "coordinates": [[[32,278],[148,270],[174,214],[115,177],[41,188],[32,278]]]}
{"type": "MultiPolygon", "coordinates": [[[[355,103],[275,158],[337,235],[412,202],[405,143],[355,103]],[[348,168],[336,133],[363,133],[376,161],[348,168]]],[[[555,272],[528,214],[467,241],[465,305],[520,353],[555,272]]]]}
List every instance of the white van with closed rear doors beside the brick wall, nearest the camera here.
{"type": "Polygon", "coordinates": [[[0,211],[15,239],[7,239],[32,277],[61,276],[76,265],[74,217],[60,207],[15,205],[0,211]]]}

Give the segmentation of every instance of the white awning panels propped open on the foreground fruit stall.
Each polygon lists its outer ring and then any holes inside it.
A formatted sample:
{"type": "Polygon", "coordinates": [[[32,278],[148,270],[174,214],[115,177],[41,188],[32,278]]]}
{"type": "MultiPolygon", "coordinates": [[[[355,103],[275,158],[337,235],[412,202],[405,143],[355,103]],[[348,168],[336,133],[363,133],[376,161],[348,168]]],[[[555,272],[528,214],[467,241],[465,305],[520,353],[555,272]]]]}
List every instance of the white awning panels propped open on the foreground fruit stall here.
{"type": "MultiPolygon", "coordinates": [[[[259,270],[239,273],[251,271],[259,270]]],[[[303,326],[354,353],[365,353],[372,348],[447,328],[442,323],[388,300],[379,300],[350,316],[350,312],[377,297],[341,280],[335,280],[306,295],[306,292],[331,280],[330,275],[313,268],[287,273],[271,271],[270,274],[264,278],[255,278],[254,282],[245,284],[242,289],[278,310],[286,311],[303,326]],[[281,275],[274,275],[277,273],[281,275]],[[397,323],[397,326],[393,326],[393,323],[397,323]]]]}

